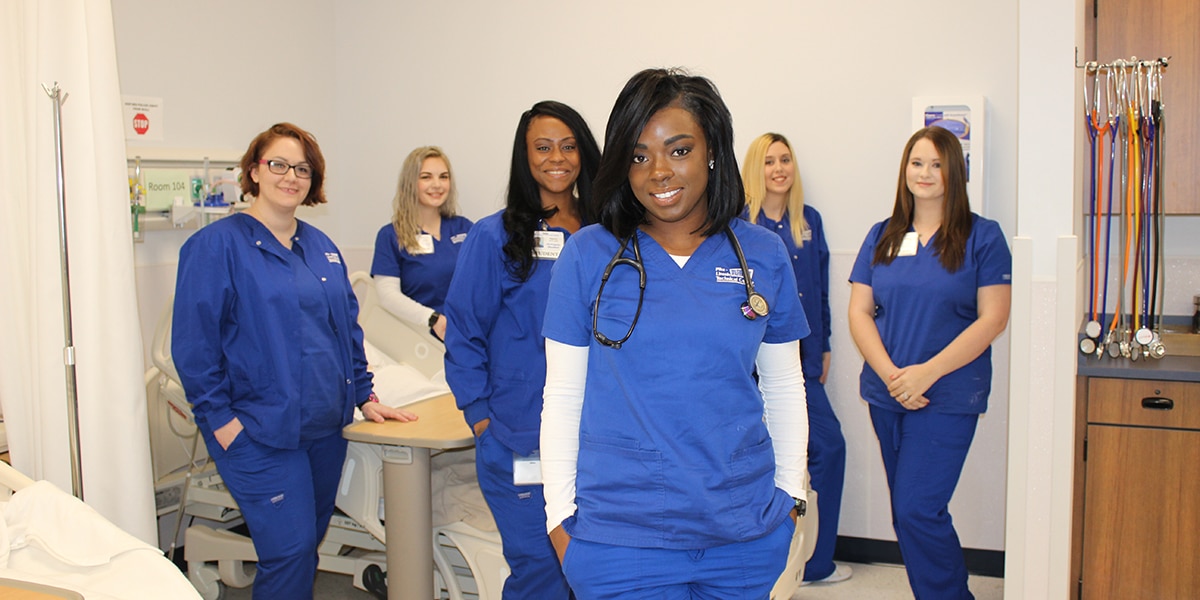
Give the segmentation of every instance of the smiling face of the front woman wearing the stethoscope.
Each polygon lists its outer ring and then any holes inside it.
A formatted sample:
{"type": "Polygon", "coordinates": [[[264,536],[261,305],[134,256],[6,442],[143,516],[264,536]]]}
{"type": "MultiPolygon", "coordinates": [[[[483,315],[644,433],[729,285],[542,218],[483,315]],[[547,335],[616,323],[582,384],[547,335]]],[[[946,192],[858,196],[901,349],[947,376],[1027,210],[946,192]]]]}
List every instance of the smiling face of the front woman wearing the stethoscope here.
{"type": "Polygon", "coordinates": [[[637,137],[629,186],[646,208],[647,229],[692,233],[708,220],[708,142],[686,109],[668,106],[637,137]]]}

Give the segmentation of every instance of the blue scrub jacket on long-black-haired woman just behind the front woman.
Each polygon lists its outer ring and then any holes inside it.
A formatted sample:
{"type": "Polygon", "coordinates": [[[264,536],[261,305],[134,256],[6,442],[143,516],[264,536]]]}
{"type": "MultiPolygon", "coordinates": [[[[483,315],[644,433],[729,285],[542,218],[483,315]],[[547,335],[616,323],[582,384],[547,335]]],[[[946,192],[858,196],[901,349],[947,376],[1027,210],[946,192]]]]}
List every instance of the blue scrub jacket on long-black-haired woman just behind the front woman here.
{"type": "MultiPolygon", "coordinates": [[[[539,445],[546,341],[541,323],[553,260],[535,259],[517,281],[504,257],[503,214],[484,217],[467,235],[446,293],[446,383],[467,424],[490,418],[488,431],[521,455],[539,445]]],[[[562,228],[548,227],[564,238],[562,228]]]]}

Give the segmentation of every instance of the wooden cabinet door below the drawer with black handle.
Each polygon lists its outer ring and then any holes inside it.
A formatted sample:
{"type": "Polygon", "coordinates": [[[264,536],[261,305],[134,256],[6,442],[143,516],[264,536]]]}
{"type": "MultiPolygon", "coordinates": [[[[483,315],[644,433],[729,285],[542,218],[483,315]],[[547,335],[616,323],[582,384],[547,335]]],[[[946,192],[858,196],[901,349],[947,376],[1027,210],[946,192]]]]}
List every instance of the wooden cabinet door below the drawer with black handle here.
{"type": "Polygon", "coordinates": [[[1200,431],[1088,425],[1085,600],[1200,594],[1200,431]]]}

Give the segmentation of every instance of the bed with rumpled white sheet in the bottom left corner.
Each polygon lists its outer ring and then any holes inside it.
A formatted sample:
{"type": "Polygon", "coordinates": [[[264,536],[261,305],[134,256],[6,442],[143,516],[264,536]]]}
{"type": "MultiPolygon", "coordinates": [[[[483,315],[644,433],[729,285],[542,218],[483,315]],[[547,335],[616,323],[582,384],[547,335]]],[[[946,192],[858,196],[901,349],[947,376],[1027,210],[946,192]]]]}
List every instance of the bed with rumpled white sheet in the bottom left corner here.
{"type": "Polygon", "coordinates": [[[0,598],[199,598],[158,548],[5,462],[0,512],[0,598]],[[29,594],[6,595],[17,590],[29,594]]]}

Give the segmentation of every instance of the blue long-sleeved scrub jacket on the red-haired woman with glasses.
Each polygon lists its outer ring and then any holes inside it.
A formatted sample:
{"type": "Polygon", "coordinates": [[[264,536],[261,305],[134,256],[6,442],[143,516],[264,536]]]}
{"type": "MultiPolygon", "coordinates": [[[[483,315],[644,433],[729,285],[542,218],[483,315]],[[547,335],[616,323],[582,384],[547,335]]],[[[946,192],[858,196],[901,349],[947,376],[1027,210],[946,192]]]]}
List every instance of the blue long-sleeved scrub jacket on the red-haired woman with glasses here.
{"type": "Polygon", "coordinates": [[[302,256],[254,217],[235,214],[200,229],[180,250],[172,355],[196,422],[209,437],[236,416],[256,442],[298,448],[305,419],[314,414],[306,400],[306,355],[334,359],[337,382],[323,384],[340,386],[341,406],[325,434],[348,425],[355,404],[371,395],[359,305],[341,252],[304,221],[292,240],[302,256]],[[311,281],[298,283],[298,269],[311,281]],[[335,347],[312,348],[320,343],[305,335],[313,326],[325,326],[324,343],[335,347]]]}

